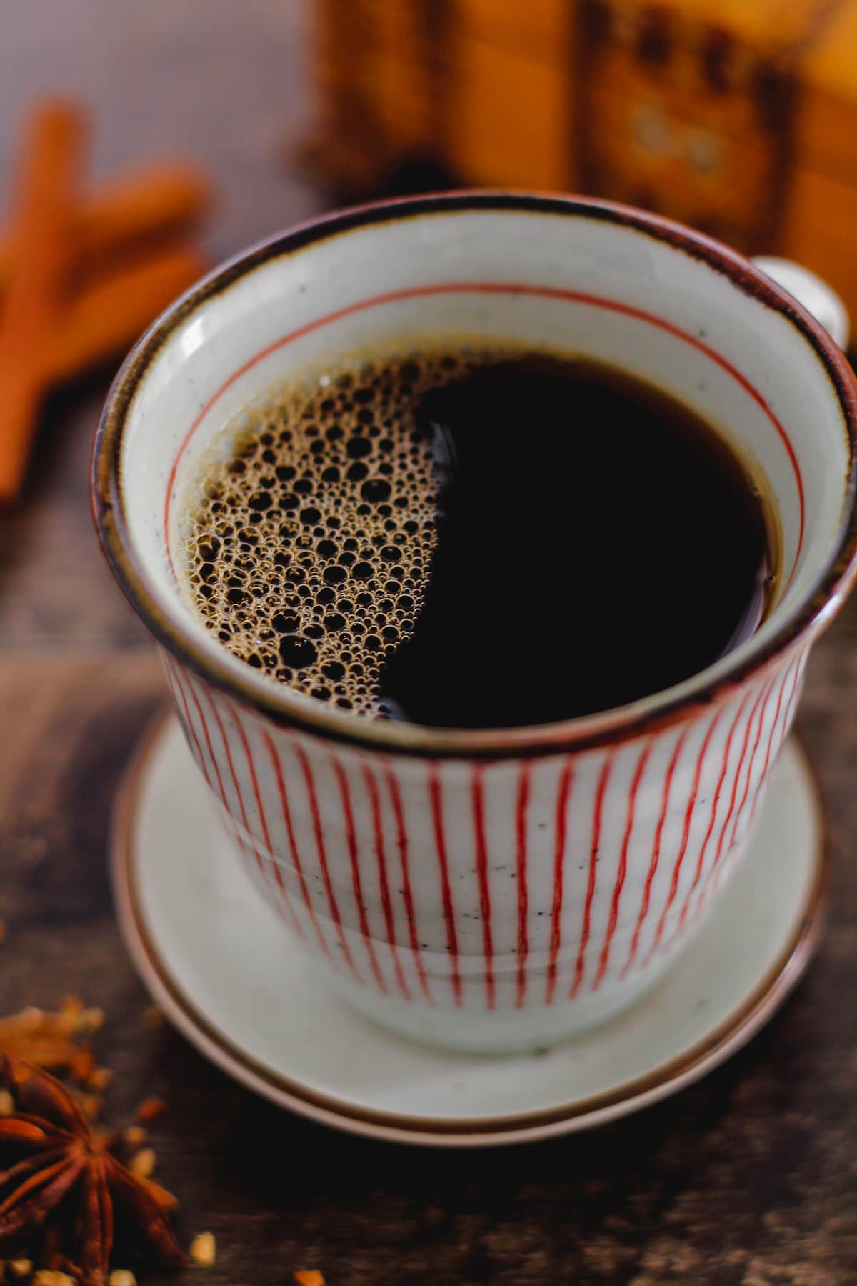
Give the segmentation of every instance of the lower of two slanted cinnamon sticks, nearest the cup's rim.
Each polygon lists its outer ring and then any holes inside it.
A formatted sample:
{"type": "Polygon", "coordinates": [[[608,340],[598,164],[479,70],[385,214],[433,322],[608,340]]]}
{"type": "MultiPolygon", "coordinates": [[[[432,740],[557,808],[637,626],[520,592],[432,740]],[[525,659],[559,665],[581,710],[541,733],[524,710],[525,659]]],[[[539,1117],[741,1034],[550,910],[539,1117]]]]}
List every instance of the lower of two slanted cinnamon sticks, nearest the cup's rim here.
{"type": "Polygon", "coordinates": [[[123,354],[206,267],[203,253],[193,246],[168,246],[85,284],[49,346],[49,379],[68,379],[123,354]]]}

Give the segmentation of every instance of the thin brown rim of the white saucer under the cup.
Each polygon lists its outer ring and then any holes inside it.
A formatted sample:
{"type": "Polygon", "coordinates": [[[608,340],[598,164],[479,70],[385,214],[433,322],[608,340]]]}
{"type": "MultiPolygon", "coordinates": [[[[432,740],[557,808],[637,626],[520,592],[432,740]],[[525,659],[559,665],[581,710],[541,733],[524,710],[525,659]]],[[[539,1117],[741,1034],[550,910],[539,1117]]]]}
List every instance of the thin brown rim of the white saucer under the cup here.
{"type": "Polygon", "coordinates": [[[490,1147],[550,1138],[617,1120],[700,1080],[743,1048],[797,986],[817,946],[830,883],[830,845],[817,775],[803,745],[793,733],[789,750],[798,756],[813,813],[812,882],[794,934],[761,981],[727,1019],[684,1053],[651,1071],[600,1094],[570,1100],[551,1109],[451,1119],[356,1107],[335,1096],[316,1092],[240,1049],[184,994],[152,939],[136,885],[136,818],[153,760],[175,723],[175,715],[166,707],[144,730],[125,769],[113,806],[109,867],[122,939],[143,983],[193,1046],[248,1089],[320,1124],[392,1142],[490,1147]]]}

